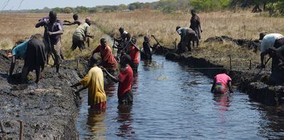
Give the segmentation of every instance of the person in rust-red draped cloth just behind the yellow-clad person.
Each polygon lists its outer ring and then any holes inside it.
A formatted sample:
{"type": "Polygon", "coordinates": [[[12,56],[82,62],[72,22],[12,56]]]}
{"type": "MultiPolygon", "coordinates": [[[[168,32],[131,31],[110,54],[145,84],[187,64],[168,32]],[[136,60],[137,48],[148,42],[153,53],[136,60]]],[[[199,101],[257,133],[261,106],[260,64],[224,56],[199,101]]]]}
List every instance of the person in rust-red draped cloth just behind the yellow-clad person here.
{"type": "Polygon", "coordinates": [[[109,45],[107,45],[107,40],[105,38],[102,38],[100,42],[101,45],[97,46],[92,55],[94,55],[94,53],[100,53],[102,62],[99,63],[99,65],[106,68],[109,72],[113,73],[117,70],[117,63],[114,55],[112,54],[109,45]]]}

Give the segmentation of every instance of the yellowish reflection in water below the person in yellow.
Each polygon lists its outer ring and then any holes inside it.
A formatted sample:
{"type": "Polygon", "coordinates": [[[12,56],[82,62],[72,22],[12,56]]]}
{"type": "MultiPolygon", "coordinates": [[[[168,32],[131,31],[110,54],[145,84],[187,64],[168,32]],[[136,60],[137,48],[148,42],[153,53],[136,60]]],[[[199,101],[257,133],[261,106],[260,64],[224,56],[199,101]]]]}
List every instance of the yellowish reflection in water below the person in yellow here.
{"type": "Polygon", "coordinates": [[[89,135],[92,139],[105,139],[106,126],[104,119],[106,118],[106,112],[100,112],[97,109],[89,109],[87,117],[87,128],[89,129],[89,135]]]}

